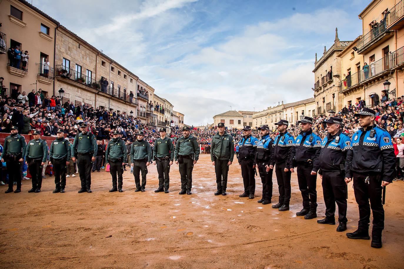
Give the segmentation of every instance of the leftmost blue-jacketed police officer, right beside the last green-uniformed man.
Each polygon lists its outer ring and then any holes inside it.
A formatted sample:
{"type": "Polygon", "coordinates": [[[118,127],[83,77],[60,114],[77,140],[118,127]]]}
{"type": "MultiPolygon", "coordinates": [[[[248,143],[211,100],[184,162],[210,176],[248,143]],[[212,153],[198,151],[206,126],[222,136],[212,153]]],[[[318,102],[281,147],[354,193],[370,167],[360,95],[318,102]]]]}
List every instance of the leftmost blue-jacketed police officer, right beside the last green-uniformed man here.
{"type": "Polygon", "coordinates": [[[243,177],[244,193],[239,197],[248,197],[254,199],[255,193],[255,152],[257,151],[258,139],[251,136],[251,127],[244,126],[244,136],[240,140],[240,150],[238,154],[238,163],[241,167],[241,176],[243,177]]]}

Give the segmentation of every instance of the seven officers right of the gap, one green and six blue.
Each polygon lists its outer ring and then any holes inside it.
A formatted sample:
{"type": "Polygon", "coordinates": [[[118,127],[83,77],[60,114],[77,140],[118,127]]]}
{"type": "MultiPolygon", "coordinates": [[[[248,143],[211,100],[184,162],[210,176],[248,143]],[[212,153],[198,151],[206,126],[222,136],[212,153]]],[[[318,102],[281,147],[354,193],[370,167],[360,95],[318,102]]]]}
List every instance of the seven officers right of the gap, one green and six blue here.
{"type": "MultiPolygon", "coordinates": [[[[299,121],[301,132],[295,139],[288,133],[288,121],[280,120],[279,134],[273,140],[269,127],[259,127],[261,138],[251,136],[251,127],[244,126],[244,136],[240,140],[238,163],[244,182],[244,193],[240,197],[254,198],[255,174],[258,168],[262,181],[262,204],[272,201],[272,174],[275,170],[278,181],[279,200],[272,208],[288,211],[290,202],[291,173],[297,167],[297,179],[303,199],[303,209],[296,213],[304,219],[317,217],[317,174],[322,179],[325,218],[320,224],[335,225],[335,210],[338,206],[337,231],[347,229],[347,185],[353,179],[353,190],[359,207],[358,229],[347,233],[350,239],[369,240],[370,209],[373,214],[371,246],[381,248],[384,229],[383,201],[385,187],[393,181],[395,154],[391,137],[386,130],[374,125],[375,111],[362,108],[355,114],[361,128],[353,134],[352,140],[343,133],[343,123],[339,117],[324,121],[327,136],[322,140],[313,133],[313,119],[303,117],[299,121]],[[383,199],[382,199],[383,196],[383,199]],[[369,206],[370,202],[370,206],[369,206]]],[[[228,166],[233,161],[234,142],[225,132],[223,123],[218,124],[219,132],[213,137],[211,156],[215,165],[217,192],[226,194],[228,166]],[[227,166],[227,167],[226,167],[227,166]]]]}

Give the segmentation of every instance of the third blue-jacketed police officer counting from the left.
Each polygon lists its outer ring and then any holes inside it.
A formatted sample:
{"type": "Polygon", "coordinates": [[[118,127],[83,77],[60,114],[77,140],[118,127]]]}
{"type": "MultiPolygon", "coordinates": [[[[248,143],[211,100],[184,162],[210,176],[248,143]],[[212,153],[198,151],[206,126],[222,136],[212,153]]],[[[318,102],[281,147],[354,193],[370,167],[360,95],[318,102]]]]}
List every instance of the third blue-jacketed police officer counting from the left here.
{"type": "Polygon", "coordinates": [[[289,122],[281,119],[275,123],[278,125],[279,135],[274,142],[274,163],[275,173],[278,181],[279,202],[272,208],[279,211],[288,211],[290,202],[290,176],[294,173],[293,156],[295,156],[295,139],[288,133],[289,122]]]}

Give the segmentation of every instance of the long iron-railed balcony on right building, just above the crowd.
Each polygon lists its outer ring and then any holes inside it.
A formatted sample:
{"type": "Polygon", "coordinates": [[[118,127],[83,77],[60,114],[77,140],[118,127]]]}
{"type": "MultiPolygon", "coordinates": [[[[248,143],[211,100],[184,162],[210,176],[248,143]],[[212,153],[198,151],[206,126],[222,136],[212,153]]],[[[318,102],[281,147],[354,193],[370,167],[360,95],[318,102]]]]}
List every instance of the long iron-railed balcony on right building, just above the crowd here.
{"type": "Polygon", "coordinates": [[[391,54],[377,60],[374,63],[370,63],[368,67],[362,68],[362,70],[347,76],[342,81],[341,93],[348,92],[358,88],[360,85],[366,82],[373,81],[380,76],[390,73],[391,70],[402,67],[404,65],[404,47],[391,52],[391,54]]]}

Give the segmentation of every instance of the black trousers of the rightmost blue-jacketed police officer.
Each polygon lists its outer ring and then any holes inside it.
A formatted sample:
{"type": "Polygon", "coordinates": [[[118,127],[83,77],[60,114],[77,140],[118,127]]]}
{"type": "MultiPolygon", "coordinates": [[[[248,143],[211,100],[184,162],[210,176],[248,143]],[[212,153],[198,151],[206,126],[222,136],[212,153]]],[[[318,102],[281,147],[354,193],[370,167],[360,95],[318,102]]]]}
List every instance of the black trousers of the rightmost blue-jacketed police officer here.
{"type": "Polygon", "coordinates": [[[370,208],[372,208],[373,235],[380,235],[384,229],[384,209],[381,198],[383,187],[381,186],[381,181],[381,176],[378,173],[356,173],[353,171],[353,191],[359,207],[358,229],[368,231],[370,208]],[[369,176],[369,184],[365,183],[367,176],[369,176]]]}

